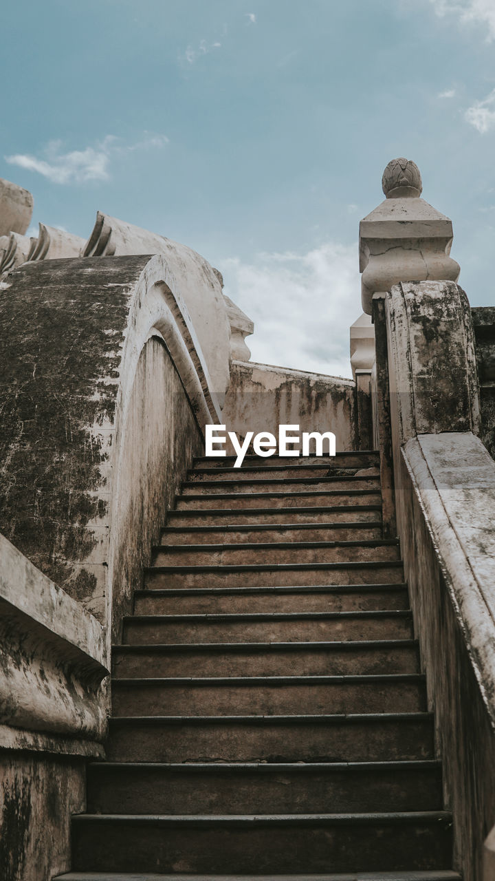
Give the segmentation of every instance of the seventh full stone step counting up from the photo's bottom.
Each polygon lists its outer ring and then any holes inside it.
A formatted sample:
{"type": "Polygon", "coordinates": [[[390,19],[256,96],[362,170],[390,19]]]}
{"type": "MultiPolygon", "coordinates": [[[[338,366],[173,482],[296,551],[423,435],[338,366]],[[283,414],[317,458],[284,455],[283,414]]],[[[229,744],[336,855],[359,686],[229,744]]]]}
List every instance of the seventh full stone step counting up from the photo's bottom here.
{"type": "Polygon", "coordinates": [[[137,615],[404,609],[409,609],[409,596],[406,585],[400,583],[134,591],[134,612],[137,615]]]}

